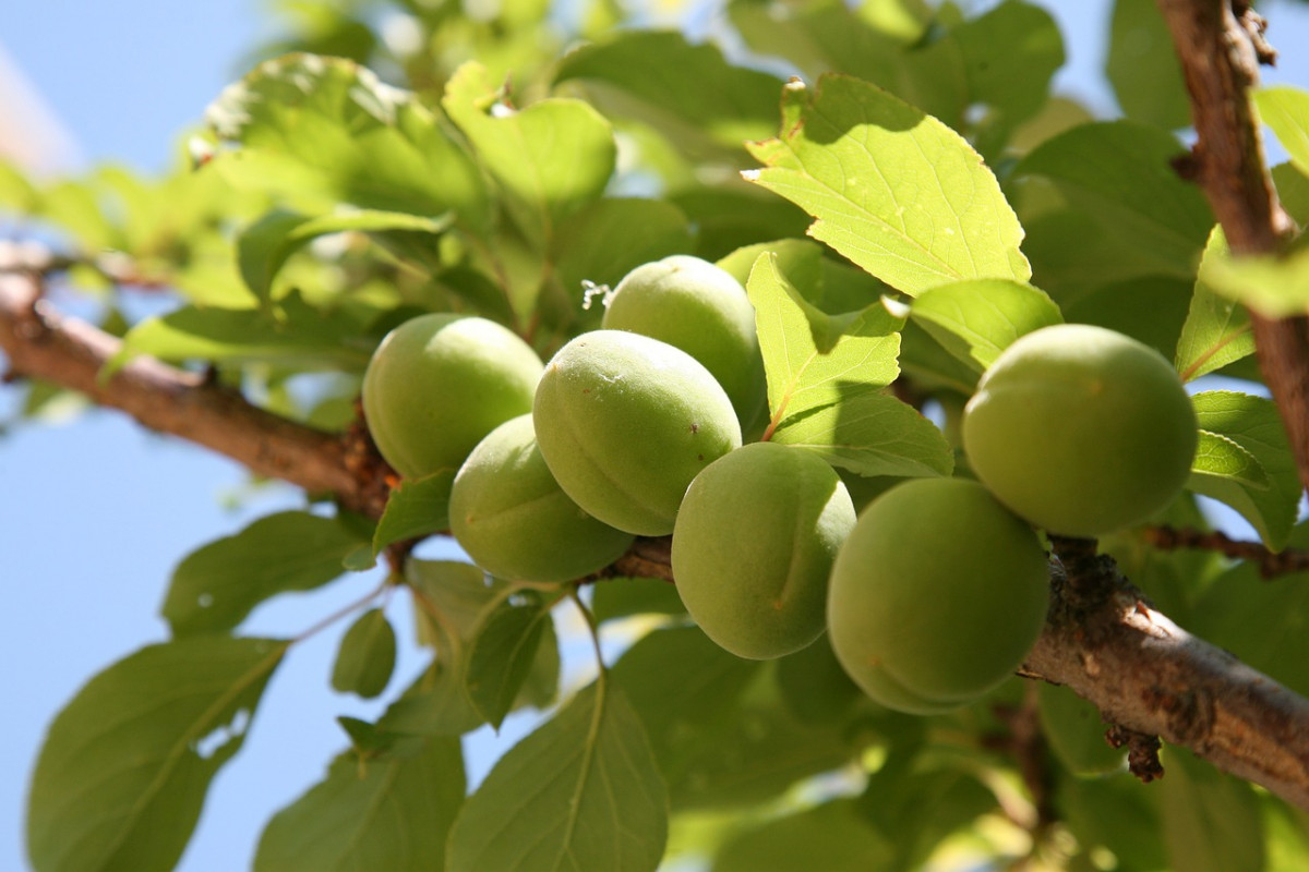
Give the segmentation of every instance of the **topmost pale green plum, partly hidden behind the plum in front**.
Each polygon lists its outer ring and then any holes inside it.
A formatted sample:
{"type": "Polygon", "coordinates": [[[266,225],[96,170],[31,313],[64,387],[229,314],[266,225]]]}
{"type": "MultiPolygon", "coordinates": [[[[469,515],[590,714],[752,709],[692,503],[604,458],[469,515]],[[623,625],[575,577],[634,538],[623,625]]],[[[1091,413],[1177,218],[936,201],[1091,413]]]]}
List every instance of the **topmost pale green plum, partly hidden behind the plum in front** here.
{"type": "Polygon", "coordinates": [[[673,255],[627,273],[605,305],[606,329],[626,329],[675,345],[700,361],[749,425],[767,386],[754,306],[732,273],[700,258],[673,255]]]}

